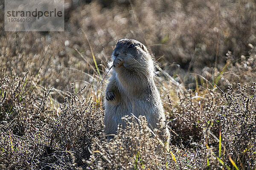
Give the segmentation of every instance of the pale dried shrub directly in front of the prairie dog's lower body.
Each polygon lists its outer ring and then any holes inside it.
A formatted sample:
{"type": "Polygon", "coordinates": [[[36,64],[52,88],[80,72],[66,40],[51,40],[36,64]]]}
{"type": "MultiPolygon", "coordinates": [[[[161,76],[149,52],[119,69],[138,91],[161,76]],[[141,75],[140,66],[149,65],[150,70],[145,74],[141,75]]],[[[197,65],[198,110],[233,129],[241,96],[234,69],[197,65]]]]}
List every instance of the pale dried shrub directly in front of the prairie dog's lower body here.
{"type": "Polygon", "coordinates": [[[172,169],[174,161],[170,153],[163,153],[162,145],[152,137],[145,116],[123,117],[127,127],[119,127],[118,133],[109,142],[95,138],[88,169],[172,169]],[[166,168],[166,166],[168,168],[166,168]]]}

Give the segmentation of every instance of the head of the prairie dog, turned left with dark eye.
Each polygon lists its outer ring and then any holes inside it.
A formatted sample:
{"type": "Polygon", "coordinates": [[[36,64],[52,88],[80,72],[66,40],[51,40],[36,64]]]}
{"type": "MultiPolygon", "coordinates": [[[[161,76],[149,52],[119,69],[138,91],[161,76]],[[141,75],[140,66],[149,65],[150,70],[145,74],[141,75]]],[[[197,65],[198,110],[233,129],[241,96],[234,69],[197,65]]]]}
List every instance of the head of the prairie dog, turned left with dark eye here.
{"type": "Polygon", "coordinates": [[[113,60],[120,57],[126,68],[138,68],[154,65],[153,59],[145,45],[137,40],[121,39],[112,53],[113,60]]]}

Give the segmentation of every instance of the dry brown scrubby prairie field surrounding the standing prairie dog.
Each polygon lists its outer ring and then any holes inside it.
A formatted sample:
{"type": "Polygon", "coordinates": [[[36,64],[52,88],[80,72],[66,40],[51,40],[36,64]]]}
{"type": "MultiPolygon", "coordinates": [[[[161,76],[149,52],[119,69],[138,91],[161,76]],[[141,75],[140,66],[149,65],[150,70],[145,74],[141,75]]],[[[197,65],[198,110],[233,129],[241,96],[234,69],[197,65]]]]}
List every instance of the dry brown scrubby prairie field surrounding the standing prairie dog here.
{"type": "Polygon", "coordinates": [[[4,31],[4,0],[0,16],[0,169],[256,170],[254,0],[65,0],[59,32],[4,31]],[[124,37],[156,61],[169,152],[143,116],[105,139],[124,37]]]}

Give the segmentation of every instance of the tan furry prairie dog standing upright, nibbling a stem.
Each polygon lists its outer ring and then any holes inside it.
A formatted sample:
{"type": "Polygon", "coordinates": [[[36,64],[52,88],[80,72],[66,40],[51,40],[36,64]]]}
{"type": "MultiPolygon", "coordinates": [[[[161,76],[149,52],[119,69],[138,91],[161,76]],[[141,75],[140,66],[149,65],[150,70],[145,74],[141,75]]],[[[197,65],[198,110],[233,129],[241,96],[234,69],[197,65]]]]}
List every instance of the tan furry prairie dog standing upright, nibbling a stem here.
{"type": "MultiPolygon", "coordinates": [[[[154,83],[154,61],[145,45],[137,40],[121,39],[112,59],[113,70],[105,94],[105,133],[115,134],[119,124],[125,127],[121,118],[131,113],[145,116],[152,130],[160,128],[157,124],[160,119],[165,120],[165,115],[154,83]]],[[[169,130],[165,131],[168,136],[169,130]]]]}

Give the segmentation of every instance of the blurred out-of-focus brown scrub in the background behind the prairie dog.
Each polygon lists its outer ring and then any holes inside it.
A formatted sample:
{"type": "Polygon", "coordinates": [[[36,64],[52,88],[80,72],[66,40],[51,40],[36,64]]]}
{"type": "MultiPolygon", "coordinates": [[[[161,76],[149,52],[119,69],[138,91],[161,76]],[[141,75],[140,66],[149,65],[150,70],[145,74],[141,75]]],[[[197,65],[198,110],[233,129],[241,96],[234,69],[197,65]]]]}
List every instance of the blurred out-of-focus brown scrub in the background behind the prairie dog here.
{"type": "Polygon", "coordinates": [[[3,19],[0,68],[59,91],[70,82],[96,91],[124,37],[144,43],[157,61],[156,73],[185,88],[224,89],[255,78],[253,0],[65,0],[64,32],[5,32],[3,19]]]}

